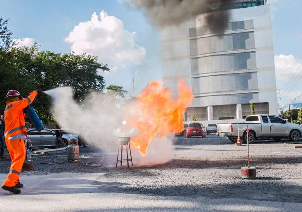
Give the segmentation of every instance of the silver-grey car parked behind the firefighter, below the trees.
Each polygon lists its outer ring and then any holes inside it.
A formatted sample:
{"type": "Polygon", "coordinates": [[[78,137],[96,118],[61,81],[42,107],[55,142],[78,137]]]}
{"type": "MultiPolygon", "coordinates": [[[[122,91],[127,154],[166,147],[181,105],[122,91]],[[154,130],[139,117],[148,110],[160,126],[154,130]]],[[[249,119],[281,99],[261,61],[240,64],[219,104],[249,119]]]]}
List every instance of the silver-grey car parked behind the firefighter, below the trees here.
{"type": "MultiPolygon", "coordinates": [[[[78,135],[64,134],[62,136],[63,142],[68,145],[69,139],[77,139],[78,135]]],[[[35,147],[50,147],[55,146],[55,131],[50,129],[43,129],[37,131],[36,129],[27,130],[27,138],[31,141],[33,148],[35,147]]]]}

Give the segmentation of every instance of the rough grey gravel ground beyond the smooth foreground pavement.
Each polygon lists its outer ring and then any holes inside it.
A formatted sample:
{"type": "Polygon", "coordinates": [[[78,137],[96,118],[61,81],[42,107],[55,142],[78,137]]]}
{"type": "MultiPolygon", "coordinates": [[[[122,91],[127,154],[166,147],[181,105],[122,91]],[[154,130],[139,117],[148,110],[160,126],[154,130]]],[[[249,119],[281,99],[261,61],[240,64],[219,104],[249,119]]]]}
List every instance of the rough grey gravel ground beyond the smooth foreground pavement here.
{"type": "MultiPolygon", "coordinates": [[[[209,198],[245,198],[260,201],[302,203],[302,149],[284,145],[284,141],[257,141],[250,145],[250,165],[257,168],[256,180],[241,179],[241,167],[247,165],[247,146],[235,146],[225,138],[174,140],[173,160],[153,166],[115,168],[116,147],[102,162],[92,167],[66,162],[66,152],[33,155],[34,170],[23,175],[59,172],[106,173],[94,184],[103,192],[145,194],[151,196],[196,196],[209,198]],[[46,165],[43,162],[64,162],[46,165]]],[[[99,162],[104,152],[95,147],[80,148],[85,162],[99,162]]],[[[0,173],[7,173],[10,161],[0,161],[0,173]]]]}

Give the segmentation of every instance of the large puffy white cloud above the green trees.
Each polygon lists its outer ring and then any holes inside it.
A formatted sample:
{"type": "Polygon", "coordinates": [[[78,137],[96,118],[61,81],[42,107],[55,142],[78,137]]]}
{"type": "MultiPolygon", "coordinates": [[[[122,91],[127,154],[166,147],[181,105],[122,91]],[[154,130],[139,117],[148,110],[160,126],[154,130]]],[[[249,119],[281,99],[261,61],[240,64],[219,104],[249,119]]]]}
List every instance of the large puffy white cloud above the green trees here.
{"type": "Polygon", "coordinates": [[[102,11],[99,16],[93,13],[90,21],[81,22],[65,38],[71,43],[76,54],[88,53],[108,63],[112,71],[129,64],[139,64],[146,50],[135,41],[136,33],[124,29],[124,24],[115,16],[102,11]]]}

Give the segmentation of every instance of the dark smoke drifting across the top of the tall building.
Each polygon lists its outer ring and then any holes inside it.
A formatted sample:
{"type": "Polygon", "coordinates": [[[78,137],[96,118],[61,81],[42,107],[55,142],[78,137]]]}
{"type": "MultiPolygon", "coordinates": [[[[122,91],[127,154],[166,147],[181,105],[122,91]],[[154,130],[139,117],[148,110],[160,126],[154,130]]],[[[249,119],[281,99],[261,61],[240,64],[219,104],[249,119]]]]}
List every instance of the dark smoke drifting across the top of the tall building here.
{"type": "Polygon", "coordinates": [[[229,11],[222,7],[230,2],[232,0],[133,0],[133,5],[143,10],[150,23],[158,28],[178,26],[206,13],[205,25],[213,33],[223,33],[228,26],[229,11]]]}

